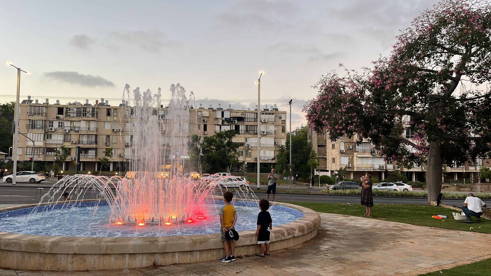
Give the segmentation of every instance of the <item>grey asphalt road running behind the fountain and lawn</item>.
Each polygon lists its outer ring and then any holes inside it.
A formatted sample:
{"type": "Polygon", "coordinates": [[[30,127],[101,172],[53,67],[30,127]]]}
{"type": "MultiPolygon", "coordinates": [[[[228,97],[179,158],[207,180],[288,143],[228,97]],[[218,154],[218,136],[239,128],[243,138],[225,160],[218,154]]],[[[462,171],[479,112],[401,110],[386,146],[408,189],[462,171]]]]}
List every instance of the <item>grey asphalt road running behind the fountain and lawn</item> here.
{"type": "MultiPolygon", "coordinates": [[[[43,188],[44,195],[48,193],[49,188],[43,188]]],[[[0,186],[0,204],[32,204],[38,203],[40,193],[35,187],[14,187],[0,186]],[[34,196],[36,196],[34,198],[34,196]],[[33,200],[35,199],[35,200],[33,200]]],[[[51,194],[53,195],[53,193],[51,194]]],[[[56,197],[59,195],[56,195],[56,197]]],[[[266,198],[266,193],[256,193],[258,198],[266,198]]],[[[85,199],[96,198],[96,193],[88,190],[84,196],[85,199]]],[[[73,199],[73,198],[72,198],[73,199]]],[[[270,198],[271,200],[271,198],[270,198]]],[[[275,201],[307,201],[307,202],[324,202],[324,203],[359,203],[359,196],[351,195],[329,195],[329,194],[289,194],[277,193],[275,201]]],[[[443,199],[443,203],[448,205],[462,205],[463,199],[443,199]]],[[[375,204],[427,204],[426,198],[411,197],[374,197],[375,204]]]]}

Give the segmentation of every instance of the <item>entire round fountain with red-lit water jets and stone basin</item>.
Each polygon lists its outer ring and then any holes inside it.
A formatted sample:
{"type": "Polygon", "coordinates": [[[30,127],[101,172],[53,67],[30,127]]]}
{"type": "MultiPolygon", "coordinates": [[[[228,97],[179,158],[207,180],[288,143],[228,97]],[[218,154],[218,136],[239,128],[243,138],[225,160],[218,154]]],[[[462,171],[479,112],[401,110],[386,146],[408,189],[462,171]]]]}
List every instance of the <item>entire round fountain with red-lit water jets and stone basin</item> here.
{"type": "MultiPolygon", "coordinates": [[[[0,210],[0,267],[29,270],[99,270],[188,263],[223,255],[217,205],[222,188],[189,169],[189,101],[171,85],[168,110],[161,89],[134,95],[126,177],[64,177],[38,204],[0,210]],[[161,133],[165,131],[165,135],[161,133]],[[69,200],[64,194],[68,193],[69,200]]],[[[124,88],[130,97],[130,86],[124,88]]],[[[131,107],[127,107],[129,110],[131,107]]],[[[125,152],[126,153],[126,152],[125,152]]],[[[241,231],[236,254],[258,252],[254,230],[257,197],[248,187],[234,192],[241,231]]],[[[310,209],[274,203],[272,250],[317,234],[320,217],[310,209]]]]}

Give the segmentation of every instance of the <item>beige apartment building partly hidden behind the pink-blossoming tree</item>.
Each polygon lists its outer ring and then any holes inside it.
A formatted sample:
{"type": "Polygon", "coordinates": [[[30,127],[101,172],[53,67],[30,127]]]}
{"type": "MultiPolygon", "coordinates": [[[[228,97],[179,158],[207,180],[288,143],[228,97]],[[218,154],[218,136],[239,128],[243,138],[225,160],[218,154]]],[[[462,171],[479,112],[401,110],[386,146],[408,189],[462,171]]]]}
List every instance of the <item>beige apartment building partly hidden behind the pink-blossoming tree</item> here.
{"type": "MultiPolygon", "coordinates": [[[[409,129],[410,116],[403,119],[406,130],[402,137],[410,141],[413,140],[413,133],[409,129]]],[[[361,144],[356,145],[355,135],[352,138],[343,136],[336,141],[331,141],[328,138],[327,132],[317,134],[313,131],[308,131],[309,138],[313,144],[314,150],[319,157],[319,171],[327,175],[333,173],[342,167],[346,167],[348,171],[347,177],[359,178],[365,173],[370,173],[372,177],[384,180],[388,172],[405,173],[409,181],[422,181],[425,179],[426,167],[424,164],[418,166],[414,164],[411,168],[399,166],[396,161],[385,161],[384,157],[373,148],[373,144],[369,140],[363,140],[361,144]]],[[[483,166],[489,167],[489,160],[478,158],[473,162],[469,162],[464,166],[447,166],[445,168],[444,182],[464,181],[464,178],[474,179],[477,177],[477,172],[483,166]]]]}

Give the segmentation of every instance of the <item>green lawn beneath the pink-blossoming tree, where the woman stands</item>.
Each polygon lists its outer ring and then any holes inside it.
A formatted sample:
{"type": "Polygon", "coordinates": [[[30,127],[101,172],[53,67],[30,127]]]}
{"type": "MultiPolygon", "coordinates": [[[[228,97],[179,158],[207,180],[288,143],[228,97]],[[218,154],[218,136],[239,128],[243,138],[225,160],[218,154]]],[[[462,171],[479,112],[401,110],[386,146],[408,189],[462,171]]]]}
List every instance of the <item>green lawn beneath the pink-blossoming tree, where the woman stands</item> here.
{"type": "MultiPolygon", "coordinates": [[[[332,213],[363,217],[365,206],[361,204],[347,203],[318,203],[318,202],[295,202],[289,201],[300,206],[310,208],[321,213],[332,213]]],[[[450,209],[439,206],[410,205],[410,204],[377,204],[372,208],[372,219],[384,221],[396,221],[414,225],[432,226],[438,228],[455,229],[479,233],[491,233],[491,221],[481,219],[481,223],[457,222],[452,216],[450,209]],[[446,219],[433,219],[434,215],[445,215],[446,219]],[[472,227],[472,229],[471,229],[472,227]]],[[[473,220],[475,221],[475,217],[473,220]]]]}

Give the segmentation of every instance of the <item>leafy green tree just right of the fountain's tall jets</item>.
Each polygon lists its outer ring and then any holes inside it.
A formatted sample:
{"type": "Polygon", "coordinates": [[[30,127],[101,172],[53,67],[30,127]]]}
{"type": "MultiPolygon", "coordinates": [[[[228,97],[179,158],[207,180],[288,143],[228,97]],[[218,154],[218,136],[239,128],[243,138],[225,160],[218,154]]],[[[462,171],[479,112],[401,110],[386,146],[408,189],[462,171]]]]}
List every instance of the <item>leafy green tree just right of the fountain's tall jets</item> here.
{"type": "Polygon", "coordinates": [[[232,164],[237,163],[237,148],[239,145],[232,141],[234,136],[235,131],[227,130],[203,138],[201,142],[201,161],[204,172],[228,171],[232,164]]]}

